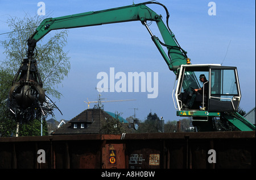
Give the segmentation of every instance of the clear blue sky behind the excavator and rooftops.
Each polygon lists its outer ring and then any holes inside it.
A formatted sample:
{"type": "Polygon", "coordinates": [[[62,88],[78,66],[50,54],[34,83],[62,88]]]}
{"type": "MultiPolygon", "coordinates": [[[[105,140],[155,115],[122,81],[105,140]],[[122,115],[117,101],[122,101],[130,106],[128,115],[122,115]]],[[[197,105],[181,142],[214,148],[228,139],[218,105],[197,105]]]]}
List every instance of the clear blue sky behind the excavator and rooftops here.
{"type": "MultiPolygon", "coordinates": [[[[9,32],[6,24],[9,15],[22,17],[28,13],[35,15],[40,1],[0,0],[0,34],[9,32]]],[[[46,14],[64,16],[80,12],[97,11],[131,5],[129,1],[43,1],[46,14]]],[[[134,0],[134,3],[143,1],[134,0]]],[[[242,99],[240,106],[250,111],[255,107],[255,1],[213,1],[216,3],[216,15],[208,15],[210,1],[162,0],[170,12],[169,26],[176,39],[191,58],[192,64],[221,64],[237,66],[242,99]],[[230,43],[230,45],[229,45],[230,43]],[[229,48],[228,48],[229,45],[229,48]],[[226,54],[226,51],[228,52],[226,54]]],[[[165,11],[158,5],[149,5],[165,19],[165,11]]],[[[153,22],[150,26],[153,34],[161,37],[153,22]]],[[[51,32],[52,33],[52,32],[51,32]]],[[[0,35],[5,40],[6,35],[0,35]]],[[[147,98],[147,92],[117,93],[103,92],[106,101],[137,99],[127,102],[105,103],[105,110],[121,112],[127,118],[136,111],[137,118],[144,120],[148,113],[155,112],[168,120],[178,120],[172,89],[174,73],[156,49],[150,35],[141,22],[108,24],[104,26],[84,27],[68,30],[68,44],[65,47],[71,57],[71,71],[58,90],[63,94],[60,100],[52,98],[63,112],[55,111],[57,120],[70,120],[87,108],[87,98],[96,101],[95,90],[97,74],[109,74],[111,67],[115,73],[158,72],[158,97],[147,98]]],[[[0,47],[0,60],[5,60],[3,47],[0,47]]],[[[18,67],[17,67],[18,68],[18,67]]],[[[11,81],[11,80],[10,80],[11,81]]],[[[90,107],[93,107],[93,103],[90,107]]],[[[50,117],[49,117],[50,118],[50,117]]]]}

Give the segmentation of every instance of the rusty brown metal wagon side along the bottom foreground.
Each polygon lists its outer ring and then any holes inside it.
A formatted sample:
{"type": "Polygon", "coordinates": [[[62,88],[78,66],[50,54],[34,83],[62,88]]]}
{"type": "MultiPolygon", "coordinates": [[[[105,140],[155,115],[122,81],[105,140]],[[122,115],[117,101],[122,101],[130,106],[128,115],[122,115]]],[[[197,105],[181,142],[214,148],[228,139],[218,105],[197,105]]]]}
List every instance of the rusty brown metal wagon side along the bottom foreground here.
{"type": "Polygon", "coordinates": [[[255,131],[0,138],[5,169],[255,168],[255,131]]]}

